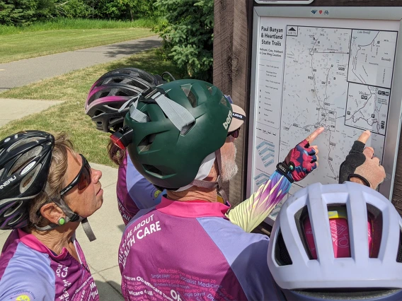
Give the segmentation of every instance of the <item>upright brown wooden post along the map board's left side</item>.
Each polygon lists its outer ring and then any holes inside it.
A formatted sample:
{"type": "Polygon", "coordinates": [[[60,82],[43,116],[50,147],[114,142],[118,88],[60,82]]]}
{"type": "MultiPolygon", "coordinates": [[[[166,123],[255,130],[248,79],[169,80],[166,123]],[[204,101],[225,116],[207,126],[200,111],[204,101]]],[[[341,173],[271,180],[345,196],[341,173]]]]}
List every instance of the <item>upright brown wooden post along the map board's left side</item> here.
{"type": "MultiPolygon", "coordinates": [[[[214,85],[231,95],[236,105],[247,113],[250,98],[251,37],[253,27],[253,0],[214,1],[214,85]]],[[[236,139],[236,163],[239,172],[231,180],[229,199],[232,205],[243,201],[243,183],[246,181],[246,139],[243,126],[236,139]]]]}

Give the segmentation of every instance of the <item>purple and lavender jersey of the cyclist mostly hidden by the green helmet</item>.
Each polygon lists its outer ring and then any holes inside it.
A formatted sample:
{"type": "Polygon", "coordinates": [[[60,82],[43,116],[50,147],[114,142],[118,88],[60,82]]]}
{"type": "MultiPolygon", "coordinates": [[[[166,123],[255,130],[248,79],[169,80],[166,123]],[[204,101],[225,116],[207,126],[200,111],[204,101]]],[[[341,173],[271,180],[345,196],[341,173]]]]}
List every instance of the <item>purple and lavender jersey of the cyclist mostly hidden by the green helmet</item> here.
{"type": "Polygon", "coordinates": [[[116,192],[125,225],[140,209],[151,208],[161,201],[161,191],[135,169],[128,154],[119,166],[116,192]]]}

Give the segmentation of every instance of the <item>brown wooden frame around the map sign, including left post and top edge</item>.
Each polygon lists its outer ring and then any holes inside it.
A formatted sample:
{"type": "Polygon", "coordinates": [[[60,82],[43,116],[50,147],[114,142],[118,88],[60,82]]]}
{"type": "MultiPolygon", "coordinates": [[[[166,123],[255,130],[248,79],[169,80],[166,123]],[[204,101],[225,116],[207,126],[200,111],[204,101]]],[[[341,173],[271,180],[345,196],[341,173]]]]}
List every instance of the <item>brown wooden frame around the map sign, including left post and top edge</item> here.
{"type": "MultiPolygon", "coordinates": [[[[253,38],[253,0],[214,0],[214,85],[231,95],[237,105],[248,114],[250,104],[251,42],[253,38]]],[[[315,0],[309,6],[402,6],[402,0],[315,0]]],[[[239,173],[229,185],[229,199],[236,205],[245,198],[248,137],[236,139],[238,154],[236,163],[239,173]]],[[[398,160],[392,203],[402,214],[402,139],[399,143],[398,160]]]]}

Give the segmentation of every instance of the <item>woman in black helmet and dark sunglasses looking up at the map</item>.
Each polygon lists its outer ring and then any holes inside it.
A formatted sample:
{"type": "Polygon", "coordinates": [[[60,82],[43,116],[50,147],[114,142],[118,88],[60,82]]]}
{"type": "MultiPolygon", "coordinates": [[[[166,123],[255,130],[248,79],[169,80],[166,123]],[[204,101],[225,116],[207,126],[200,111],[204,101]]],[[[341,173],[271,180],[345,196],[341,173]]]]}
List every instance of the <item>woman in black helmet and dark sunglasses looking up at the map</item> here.
{"type": "Polygon", "coordinates": [[[0,141],[0,300],[99,300],[75,239],[103,203],[102,173],[64,134],[23,131],[0,141]]]}

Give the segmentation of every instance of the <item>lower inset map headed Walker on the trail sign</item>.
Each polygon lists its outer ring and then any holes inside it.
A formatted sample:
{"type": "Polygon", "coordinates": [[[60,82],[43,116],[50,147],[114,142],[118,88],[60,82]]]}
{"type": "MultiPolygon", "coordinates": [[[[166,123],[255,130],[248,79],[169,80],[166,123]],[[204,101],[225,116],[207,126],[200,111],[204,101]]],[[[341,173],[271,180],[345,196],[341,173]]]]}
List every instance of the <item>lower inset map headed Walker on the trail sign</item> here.
{"type": "Polygon", "coordinates": [[[349,84],[345,125],[385,136],[390,90],[349,84]]]}

